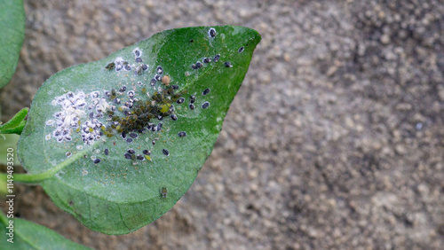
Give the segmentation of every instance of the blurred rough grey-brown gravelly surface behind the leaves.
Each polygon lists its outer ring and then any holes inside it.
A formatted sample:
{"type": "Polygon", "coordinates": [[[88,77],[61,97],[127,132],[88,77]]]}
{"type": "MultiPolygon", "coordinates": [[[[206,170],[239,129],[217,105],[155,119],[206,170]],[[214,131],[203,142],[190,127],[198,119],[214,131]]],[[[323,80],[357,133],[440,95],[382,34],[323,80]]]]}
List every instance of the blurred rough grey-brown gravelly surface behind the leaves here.
{"type": "Polygon", "coordinates": [[[210,159],[155,223],[103,235],[16,185],[20,217],[97,249],[444,246],[444,3],[212,3],[27,1],[4,121],[52,74],[163,29],[242,25],[262,42],[210,159]]]}

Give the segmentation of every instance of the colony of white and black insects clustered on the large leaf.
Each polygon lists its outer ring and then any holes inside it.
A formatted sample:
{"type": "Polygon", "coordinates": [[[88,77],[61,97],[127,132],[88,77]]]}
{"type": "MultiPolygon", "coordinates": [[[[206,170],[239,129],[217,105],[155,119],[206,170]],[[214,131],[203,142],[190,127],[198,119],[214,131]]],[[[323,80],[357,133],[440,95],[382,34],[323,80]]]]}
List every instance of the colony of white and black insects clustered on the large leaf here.
{"type": "MultiPolygon", "coordinates": [[[[214,38],[217,33],[214,28],[210,28],[208,35],[214,38]]],[[[243,47],[239,52],[243,51],[243,47]]],[[[140,75],[148,70],[148,65],[143,64],[141,59],[142,51],[136,48],[132,51],[135,57],[136,64],[130,64],[122,58],[115,59],[109,63],[105,68],[107,70],[115,69],[119,71],[134,70],[134,75],[140,75]]],[[[202,62],[209,64],[211,61],[218,62],[220,55],[217,54],[212,59],[204,58],[202,62]]],[[[194,69],[201,68],[203,64],[197,61],[193,64],[194,69]]],[[[224,63],[224,66],[231,67],[230,62],[224,63]]],[[[61,111],[54,114],[55,121],[48,120],[46,125],[56,126],[52,134],[46,135],[45,139],[50,140],[52,137],[57,142],[73,140],[72,133],[75,131],[80,135],[84,145],[91,145],[101,137],[114,137],[119,135],[123,141],[131,144],[138,139],[140,134],[147,132],[156,132],[163,129],[163,119],[169,117],[171,121],[178,121],[178,116],[174,113],[174,103],[181,105],[186,102],[182,95],[186,90],[177,92],[179,86],[170,84],[170,76],[163,75],[163,67],[157,66],[155,68],[155,76],[148,80],[151,86],[155,87],[157,82],[163,83],[163,88],[159,88],[153,94],[149,95],[151,98],[142,100],[137,98],[138,94],[135,90],[127,90],[123,85],[119,90],[105,90],[103,94],[99,91],[92,91],[84,94],[83,91],[67,92],[66,94],[55,98],[52,105],[60,105],[61,111]],[[82,120],[81,120],[82,119],[82,120]],[[155,121],[158,121],[157,123],[155,121]],[[105,122],[102,123],[102,122],[105,122]]],[[[143,82],[138,82],[139,86],[144,85],[143,82]]],[[[142,92],[147,93],[146,88],[142,92]]],[[[202,96],[210,93],[210,89],[202,90],[202,96]]],[[[195,109],[196,97],[191,95],[189,98],[189,109],[195,109]]],[[[202,103],[202,109],[210,106],[208,101],[202,103]]],[[[178,137],[186,137],[186,131],[178,132],[178,137]]],[[[152,140],[155,145],[155,140],[152,140]]],[[[114,143],[115,145],[115,143],[114,143]]],[[[82,150],[82,145],[76,146],[77,150],[82,150]]],[[[106,148],[103,153],[110,154],[110,150],[106,148]]],[[[168,149],[162,149],[165,156],[169,156],[168,149]]],[[[70,157],[71,152],[67,152],[66,156],[70,157]]],[[[123,153],[123,157],[128,160],[151,160],[151,151],[142,149],[141,153],[135,152],[133,149],[128,149],[123,153]]],[[[91,156],[94,164],[98,164],[101,160],[96,156],[91,156]]]]}

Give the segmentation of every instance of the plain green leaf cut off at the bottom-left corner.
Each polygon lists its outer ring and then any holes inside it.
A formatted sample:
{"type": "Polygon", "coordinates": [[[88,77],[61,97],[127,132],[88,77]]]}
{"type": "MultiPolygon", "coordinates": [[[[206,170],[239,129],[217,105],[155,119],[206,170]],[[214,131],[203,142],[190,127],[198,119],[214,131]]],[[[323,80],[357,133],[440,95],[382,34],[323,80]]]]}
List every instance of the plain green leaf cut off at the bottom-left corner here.
{"type": "Polygon", "coordinates": [[[9,219],[3,213],[0,213],[0,222],[3,224],[0,228],[2,249],[91,249],[42,225],[19,218],[9,219]],[[13,223],[10,224],[10,221],[13,223]]]}

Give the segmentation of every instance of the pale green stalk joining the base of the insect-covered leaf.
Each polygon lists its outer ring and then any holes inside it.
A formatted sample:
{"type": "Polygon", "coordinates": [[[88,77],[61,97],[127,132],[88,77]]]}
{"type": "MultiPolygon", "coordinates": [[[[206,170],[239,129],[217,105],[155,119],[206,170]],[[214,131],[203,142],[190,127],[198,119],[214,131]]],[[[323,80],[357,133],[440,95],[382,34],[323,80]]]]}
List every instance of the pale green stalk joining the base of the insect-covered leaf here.
{"type": "MultiPolygon", "coordinates": [[[[67,167],[68,165],[70,165],[71,163],[73,163],[75,160],[80,159],[81,157],[83,157],[83,154],[85,152],[90,151],[91,149],[84,149],[81,152],[77,152],[74,155],[72,155],[70,158],[68,158],[67,160],[64,160],[62,162],[59,163],[59,165],[56,165],[55,167],[49,169],[48,171],[45,171],[43,173],[38,173],[38,174],[13,174],[14,176],[14,182],[19,182],[22,184],[38,184],[46,179],[50,179],[53,176],[55,176],[55,174],[57,174],[61,169],[67,167]]],[[[5,179],[6,178],[6,174],[4,173],[0,173],[0,178],[5,179]]]]}

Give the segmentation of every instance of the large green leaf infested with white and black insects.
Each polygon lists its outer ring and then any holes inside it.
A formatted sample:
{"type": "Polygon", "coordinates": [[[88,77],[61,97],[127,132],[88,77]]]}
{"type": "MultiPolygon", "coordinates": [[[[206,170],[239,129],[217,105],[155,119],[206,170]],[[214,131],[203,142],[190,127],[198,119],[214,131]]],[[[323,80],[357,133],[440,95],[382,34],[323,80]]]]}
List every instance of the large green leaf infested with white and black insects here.
{"type": "Polygon", "coordinates": [[[210,155],[260,41],[247,27],[212,30],[163,31],[106,59],[54,74],[37,91],[19,141],[20,161],[30,175],[15,180],[41,182],[57,206],[107,234],[129,233],[166,213],[210,155]],[[156,74],[168,75],[169,86],[166,78],[151,86],[156,74]],[[138,101],[125,108],[131,98],[138,101]],[[108,115],[113,105],[114,115],[108,115]],[[154,114],[163,120],[148,123],[154,114]],[[162,129],[153,131],[160,123],[162,129]]]}

